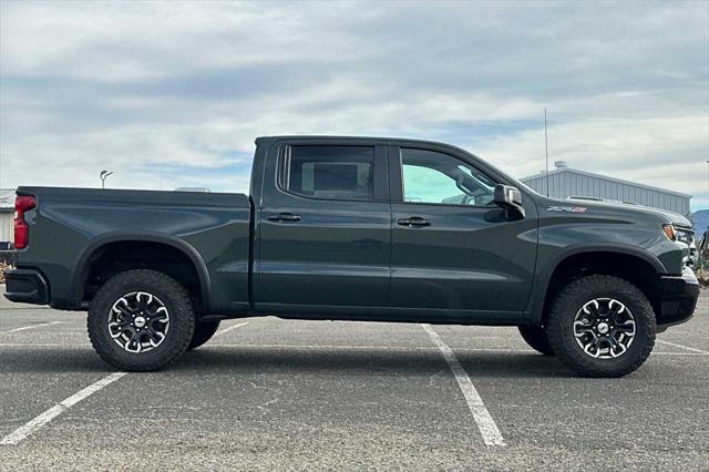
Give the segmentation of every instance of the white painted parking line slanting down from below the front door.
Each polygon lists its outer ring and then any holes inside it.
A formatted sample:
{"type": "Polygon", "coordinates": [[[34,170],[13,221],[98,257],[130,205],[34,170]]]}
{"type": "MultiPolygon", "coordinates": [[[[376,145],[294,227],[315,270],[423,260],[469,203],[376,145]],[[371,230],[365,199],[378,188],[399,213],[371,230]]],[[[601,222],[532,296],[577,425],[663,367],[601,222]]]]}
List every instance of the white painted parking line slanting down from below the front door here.
{"type": "Polygon", "coordinates": [[[497,424],[495,424],[495,420],[490,415],[487,408],[485,408],[485,403],[483,403],[483,399],[480,397],[480,393],[477,393],[475,386],[473,386],[470,377],[465,373],[465,369],[463,369],[463,366],[461,366],[451,348],[443,342],[443,339],[441,339],[431,326],[421,326],[425,332],[429,334],[433,343],[438,346],[443,358],[448,362],[448,366],[451,368],[451,371],[453,371],[455,380],[458,380],[458,384],[463,392],[463,397],[465,397],[465,401],[467,402],[467,408],[470,408],[471,413],[473,413],[473,419],[475,420],[475,423],[477,423],[477,429],[483,437],[485,445],[506,445],[500,429],[497,429],[497,424]]]}

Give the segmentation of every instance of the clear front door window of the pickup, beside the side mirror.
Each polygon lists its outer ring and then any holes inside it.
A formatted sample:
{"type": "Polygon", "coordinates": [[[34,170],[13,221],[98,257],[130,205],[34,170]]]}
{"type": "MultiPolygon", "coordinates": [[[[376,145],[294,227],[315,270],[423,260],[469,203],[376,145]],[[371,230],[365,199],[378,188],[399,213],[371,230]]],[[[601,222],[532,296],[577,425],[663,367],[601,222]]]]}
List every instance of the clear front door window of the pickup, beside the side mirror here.
{"type": "Polygon", "coordinates": [[[495,183],[448,154],[401,148],[403,201],[449,205],[491,205],[495,183]]]}

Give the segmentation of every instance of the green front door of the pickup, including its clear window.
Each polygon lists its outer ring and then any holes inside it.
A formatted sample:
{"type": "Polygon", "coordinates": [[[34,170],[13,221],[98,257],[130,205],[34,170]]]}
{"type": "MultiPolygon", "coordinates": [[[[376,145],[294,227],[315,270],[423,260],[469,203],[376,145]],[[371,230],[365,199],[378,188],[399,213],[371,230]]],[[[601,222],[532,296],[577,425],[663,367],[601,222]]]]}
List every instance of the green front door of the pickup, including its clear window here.
{"type": "Polygon", "coordinates": [[[445,309],[477,321],[524,310],[536,258],[536,211],[507,219],[497,183],[473,160],[436,147],[390,146],[390,306],[445,309]]]}

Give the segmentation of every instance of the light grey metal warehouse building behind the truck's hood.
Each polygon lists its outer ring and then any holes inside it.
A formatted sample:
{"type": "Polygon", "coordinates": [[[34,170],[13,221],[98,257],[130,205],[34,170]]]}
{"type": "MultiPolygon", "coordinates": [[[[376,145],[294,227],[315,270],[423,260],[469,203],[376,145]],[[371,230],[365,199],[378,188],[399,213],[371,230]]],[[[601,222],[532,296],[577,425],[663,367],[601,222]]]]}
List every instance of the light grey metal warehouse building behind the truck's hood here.
{"type": "Polygon", "coordinates": [[[557,161],[554,165],[556,170],[549,172],[548,177],[542,172],[521,181],[540,194],[546,195],[548,178],[548,195],[555,198],[605,198],[669,209],[686,216],[691,213],[691,195],[569,168],[564,161],[557,161]]]}

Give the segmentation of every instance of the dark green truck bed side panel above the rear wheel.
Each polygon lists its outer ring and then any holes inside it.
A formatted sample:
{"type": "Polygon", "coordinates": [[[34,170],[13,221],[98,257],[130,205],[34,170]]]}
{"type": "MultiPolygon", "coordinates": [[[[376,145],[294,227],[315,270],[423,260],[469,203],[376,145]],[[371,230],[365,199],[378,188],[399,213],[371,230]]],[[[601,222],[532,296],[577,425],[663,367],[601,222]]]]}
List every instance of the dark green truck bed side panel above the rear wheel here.
{"type": "MultiPolygon", "coordinates": [[[[88,260],[109,244],[152,240],[198,267],[204,311],[248,309],[250,203],[244,194],[20,187],[37,206],[19,268],[41,265],[52,304],[72,308],[88,260]]],[[[75,306],[74,308],[80,308],[75,306]]]]}

